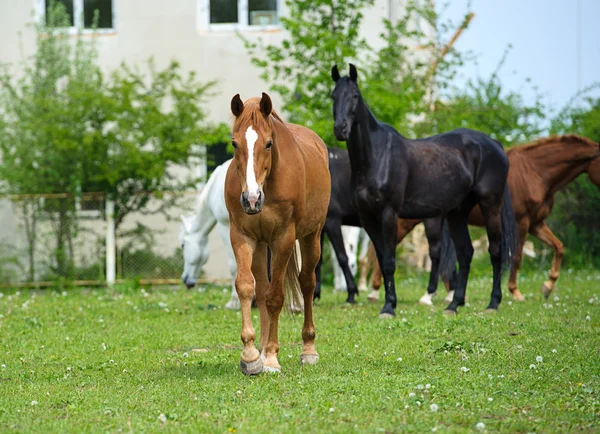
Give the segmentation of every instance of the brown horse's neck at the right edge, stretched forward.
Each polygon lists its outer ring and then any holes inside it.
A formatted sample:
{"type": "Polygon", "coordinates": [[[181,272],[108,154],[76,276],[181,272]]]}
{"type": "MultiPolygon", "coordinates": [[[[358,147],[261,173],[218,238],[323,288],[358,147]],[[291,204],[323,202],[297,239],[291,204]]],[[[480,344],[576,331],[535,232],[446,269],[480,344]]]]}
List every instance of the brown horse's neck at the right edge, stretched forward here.
{"type": "Polygon", "coordinates": [[[579,141],[561,141],[555,146],[539,146],[524,153],[553,195],[582,173],[598,156],[598,149],[579,141]]]}

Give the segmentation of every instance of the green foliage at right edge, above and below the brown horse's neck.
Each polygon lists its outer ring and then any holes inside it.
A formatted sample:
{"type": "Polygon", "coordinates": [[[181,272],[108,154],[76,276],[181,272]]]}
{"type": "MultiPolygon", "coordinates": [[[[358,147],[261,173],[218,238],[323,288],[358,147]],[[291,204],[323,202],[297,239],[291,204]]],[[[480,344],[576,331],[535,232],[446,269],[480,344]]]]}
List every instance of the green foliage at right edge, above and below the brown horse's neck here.
{"type": "MultiPolygon", "coordinates": [[[[600,98],[586,97],[580,108],[567,105],[553,120],[552,132],[575,133],[600,142],[600,98]]],[[[557,195],[550,225],[574,253],[568,255],[575,256],[574,261],[600,266],[599,216],[600,189],[587,176],[580,176],[557,195]]]]}

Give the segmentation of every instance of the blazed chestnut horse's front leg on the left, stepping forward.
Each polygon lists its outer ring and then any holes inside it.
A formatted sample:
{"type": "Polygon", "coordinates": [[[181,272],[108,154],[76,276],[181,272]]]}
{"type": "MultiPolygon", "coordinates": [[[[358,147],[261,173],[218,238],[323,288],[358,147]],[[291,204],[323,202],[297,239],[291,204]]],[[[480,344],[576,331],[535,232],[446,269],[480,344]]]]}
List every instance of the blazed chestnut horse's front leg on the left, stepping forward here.
{"type": "Polygon", "coordinates": [[[254,276],[252,275],[252,257],[256,242],[244,236],[234,225],[231,226],[231,246],[237,263],[235,289],[242,310],[242,344],[244,349],[240,358],[240,368],[246,375],[257,375],[263,370],[260,353],[254,346],[256,332],[252,326],[252,296],[254,295],[254,276]]]}

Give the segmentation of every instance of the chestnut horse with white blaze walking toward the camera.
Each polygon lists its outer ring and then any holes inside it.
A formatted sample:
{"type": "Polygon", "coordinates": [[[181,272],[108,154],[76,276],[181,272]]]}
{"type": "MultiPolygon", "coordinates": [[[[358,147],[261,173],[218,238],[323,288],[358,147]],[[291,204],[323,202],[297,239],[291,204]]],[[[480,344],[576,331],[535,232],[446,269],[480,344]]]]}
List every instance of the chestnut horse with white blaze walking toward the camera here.
{"type": "Polygon", "coordinates": [[[327,148],[313,131],[281,120],[265,93],[262,99],[250,98],[245,103],[239,94],[234,96],[231,111],[235,152],[225,179],[225,203],[242,310],[240,366],[247,375],[281,371],[279,314],[284,298],[301,300],[301,296],[304,346],[300,360],[314,364],[319,358],[312,318],[315,267],[321,256],[321,230],[331,188],[327,148]],[[299,274],[297,245],[302,259],[299,274]],[[270,282],[267,248],[271,250],[270,282]],[[260,310],[258,350],[250,312],[255,292],[260,310]]]}

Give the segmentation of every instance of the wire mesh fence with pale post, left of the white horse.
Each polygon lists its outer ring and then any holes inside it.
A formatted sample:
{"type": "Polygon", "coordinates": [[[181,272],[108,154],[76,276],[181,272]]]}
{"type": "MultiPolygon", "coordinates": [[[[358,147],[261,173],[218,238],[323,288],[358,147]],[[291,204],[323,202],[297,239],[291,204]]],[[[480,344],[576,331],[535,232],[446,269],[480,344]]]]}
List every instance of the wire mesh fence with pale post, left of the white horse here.
{"type": "MultiPolygon", "coordinates": [[[[198,192],[153,198],[115,230],[116,280],[178,283],[183,269],[179,216],[198,192]]],[[[0,199],[0,285],[106,283],[107,224],[103,194],[6,196],[0,199]]]]}

